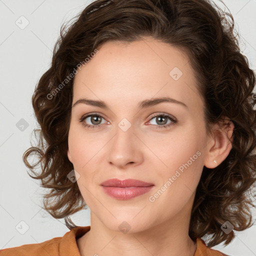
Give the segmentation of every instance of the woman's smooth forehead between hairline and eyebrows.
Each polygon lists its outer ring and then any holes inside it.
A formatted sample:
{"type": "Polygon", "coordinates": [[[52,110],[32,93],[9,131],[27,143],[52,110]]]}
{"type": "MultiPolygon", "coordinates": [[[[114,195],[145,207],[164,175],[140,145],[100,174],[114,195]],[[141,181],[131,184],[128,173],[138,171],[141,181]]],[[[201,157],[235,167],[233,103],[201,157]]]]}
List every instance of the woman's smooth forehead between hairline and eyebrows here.
{"type": "Polygon", "coordinates": [[[188,105],[201,100],[185,52],[155,39],[106,42],[77,71],[73,101],[82,96],[106,102],[119,98],[127,104],[153,96],[188,105]]]}

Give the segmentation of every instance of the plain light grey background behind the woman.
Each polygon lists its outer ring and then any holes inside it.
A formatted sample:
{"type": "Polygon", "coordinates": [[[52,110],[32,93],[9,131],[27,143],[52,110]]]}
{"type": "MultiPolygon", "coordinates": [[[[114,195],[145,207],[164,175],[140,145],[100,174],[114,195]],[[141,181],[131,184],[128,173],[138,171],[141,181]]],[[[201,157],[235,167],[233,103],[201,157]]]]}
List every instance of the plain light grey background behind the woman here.
{"type": "MultiPolygon", "coordinates": [[[[91,0],[92,1],[92,0],[91,0]]],[[[60,26],[91,1],[0,0],[0,249],[63,236],[69,229],[40,208],[43,189],[26,173],[23,152],[37,126],[31,96],[40,76],[49,68],[60,26]],[[25,24],[24,16],[29,24],[25,24]],[[16,21],[17,20],[17,21],[16,21]],[[15,22],[19,22],[18,26],[15,22]],[[21,131],[16,123],[27,122],[21,131]],[[19,231],[15,228],[24,221],[19,231]]],[[[218,0],[215,0],[220,4],[218,0]]],[[[240,33],[240,48],[256,69],[256,0],[224,0],[240,33]]],[[[21,127],[20,127],[21,128],[21,127]]],[[[89,209],[76,213],[76,225],[90,225],[89,209]]],[[[255,211],[253,218],[255,219],[255,211]]],[[[256,255],[256,226],[242,232],[227,246],[213,247],[232,256],[256,255]]]]}

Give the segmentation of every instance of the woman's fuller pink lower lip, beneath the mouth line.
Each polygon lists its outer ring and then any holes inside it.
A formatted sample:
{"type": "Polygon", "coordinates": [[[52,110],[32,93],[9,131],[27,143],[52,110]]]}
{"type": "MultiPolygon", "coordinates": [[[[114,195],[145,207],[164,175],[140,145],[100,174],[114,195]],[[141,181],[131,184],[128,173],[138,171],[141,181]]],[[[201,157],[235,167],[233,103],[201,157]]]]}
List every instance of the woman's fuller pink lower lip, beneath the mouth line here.
{"type": "Polygon", "coordinates": [[[116,187],[116,186],[102,186],[105,193],[115,199],[126,200],[131,199],[141,194],[147,193],[152,189],[151,186],[131,186],[131,187],[116,187]]]}

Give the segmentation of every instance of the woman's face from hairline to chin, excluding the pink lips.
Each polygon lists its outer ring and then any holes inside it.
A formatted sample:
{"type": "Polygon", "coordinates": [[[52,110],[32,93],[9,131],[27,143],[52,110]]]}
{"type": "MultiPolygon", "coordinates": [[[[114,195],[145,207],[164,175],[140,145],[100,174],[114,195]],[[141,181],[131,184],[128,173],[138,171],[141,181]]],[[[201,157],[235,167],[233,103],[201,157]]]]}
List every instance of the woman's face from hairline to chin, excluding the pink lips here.
{"type": "Polygon", "coordinates": [[[209,141],[195,85],[183,52],[153,39],[107,42],[78,69],[72,103],[90,101],[72,107],[67,154],[84,201],[109,229],[190,217],[209,141]],[[169,99],[151,101],[158,98],[169,99]],[[100,185],[111,178],[153,186],[116,198],[100,185]]]}

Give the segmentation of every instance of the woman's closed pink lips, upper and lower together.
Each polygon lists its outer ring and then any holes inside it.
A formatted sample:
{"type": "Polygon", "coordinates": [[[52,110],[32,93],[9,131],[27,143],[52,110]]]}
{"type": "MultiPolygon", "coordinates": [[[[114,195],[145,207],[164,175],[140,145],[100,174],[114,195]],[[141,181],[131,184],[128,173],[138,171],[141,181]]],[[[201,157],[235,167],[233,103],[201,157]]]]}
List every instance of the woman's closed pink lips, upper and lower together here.
{"type": "Polygon", "coordinates": [[[116,199],[131,199],[148,192],[154,184],[137,179],[107,179],[100,184],[105,193],[116,199]]]}

